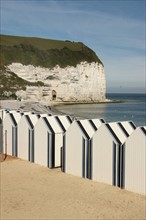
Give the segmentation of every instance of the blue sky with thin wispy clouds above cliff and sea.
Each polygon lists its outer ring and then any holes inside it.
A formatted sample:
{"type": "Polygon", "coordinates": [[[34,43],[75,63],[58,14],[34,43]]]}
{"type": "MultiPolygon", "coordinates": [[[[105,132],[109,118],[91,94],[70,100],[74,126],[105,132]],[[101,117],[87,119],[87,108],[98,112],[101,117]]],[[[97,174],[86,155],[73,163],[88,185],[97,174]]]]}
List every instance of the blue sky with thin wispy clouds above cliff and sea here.
{"type": "Polygon", "coordinates": [[[107,92],[145,92],[145,0],[1,0],[1,34],[80,41],[105,66],[107,92]]]}

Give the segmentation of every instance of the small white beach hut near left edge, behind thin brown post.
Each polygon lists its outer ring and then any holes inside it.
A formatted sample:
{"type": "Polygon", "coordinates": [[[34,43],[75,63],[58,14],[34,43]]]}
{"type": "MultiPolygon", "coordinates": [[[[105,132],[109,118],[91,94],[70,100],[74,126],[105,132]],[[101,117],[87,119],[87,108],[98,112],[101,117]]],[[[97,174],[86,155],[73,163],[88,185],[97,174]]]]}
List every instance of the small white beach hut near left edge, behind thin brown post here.
{"type": "Polygon", "coordinates": [[[18,122],[22,115],[19,112],[7,113],[3,120],[3,152],[17,156],[18,122]]]}

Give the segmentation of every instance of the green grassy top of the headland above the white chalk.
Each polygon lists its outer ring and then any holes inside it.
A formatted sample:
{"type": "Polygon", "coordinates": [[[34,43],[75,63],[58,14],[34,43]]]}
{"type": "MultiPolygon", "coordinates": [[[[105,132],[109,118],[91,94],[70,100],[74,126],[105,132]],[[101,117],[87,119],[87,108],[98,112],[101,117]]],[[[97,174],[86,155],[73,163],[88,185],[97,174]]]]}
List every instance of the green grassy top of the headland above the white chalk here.
{"type": "Polygon", "coordinates": [[[53,68],[76,66],[82,61],[102,63],[95,52],[81,42],[0,35],[1,66],[13,62],[53,68]]]}

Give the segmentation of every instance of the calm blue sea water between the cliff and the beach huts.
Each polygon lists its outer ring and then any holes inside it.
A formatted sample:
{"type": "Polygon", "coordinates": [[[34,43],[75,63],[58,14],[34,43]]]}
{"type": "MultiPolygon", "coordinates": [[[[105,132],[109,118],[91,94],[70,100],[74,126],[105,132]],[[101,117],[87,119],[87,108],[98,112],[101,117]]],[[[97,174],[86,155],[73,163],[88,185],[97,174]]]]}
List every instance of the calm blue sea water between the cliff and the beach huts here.
{"type": "Polygon", "coordinates": [[[136,126],[146,125],[146,94],[110,93],[107,98],[123,102],[61,105],[56,108],[82,118],[104,118],[106,122],[133,121],[136,126]]]}

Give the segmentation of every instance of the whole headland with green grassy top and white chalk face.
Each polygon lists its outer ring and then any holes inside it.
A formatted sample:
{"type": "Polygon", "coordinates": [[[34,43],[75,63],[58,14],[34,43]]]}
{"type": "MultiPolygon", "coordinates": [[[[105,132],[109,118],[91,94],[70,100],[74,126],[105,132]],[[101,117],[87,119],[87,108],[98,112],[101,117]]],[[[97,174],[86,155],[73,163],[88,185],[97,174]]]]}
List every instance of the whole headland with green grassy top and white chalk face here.
{"type": "Polygon", "coordinates": [[[104,66],[82,42],[0,35],[0,98],[104,101],[104,66]]]}

